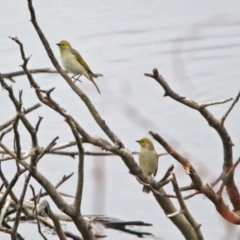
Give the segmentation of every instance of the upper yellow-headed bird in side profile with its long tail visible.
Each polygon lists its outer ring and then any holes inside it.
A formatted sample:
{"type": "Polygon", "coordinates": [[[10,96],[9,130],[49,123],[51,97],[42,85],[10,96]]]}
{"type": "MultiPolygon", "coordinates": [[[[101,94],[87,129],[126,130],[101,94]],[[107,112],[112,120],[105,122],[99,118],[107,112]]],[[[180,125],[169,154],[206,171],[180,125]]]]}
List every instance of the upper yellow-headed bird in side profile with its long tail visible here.
{"type": "Polygon", "coordinates": [[[103,75],[94,74],[87,65],[87,63],[83,60],[79,52],[72,48],[69,42],[63,40],[60,43],[57,43],[57,45],[59,46],[60,49],[62,65],[65,68],[65,70],[72,74],[75,74],[73,78],[77,75],[79,75],[79,77],[81,75],[84,75],[87,79],[93,82],[98,92],[100,93],[100,90],[97,84],[94,82],[93,78],[102,77],[103,75]]]}

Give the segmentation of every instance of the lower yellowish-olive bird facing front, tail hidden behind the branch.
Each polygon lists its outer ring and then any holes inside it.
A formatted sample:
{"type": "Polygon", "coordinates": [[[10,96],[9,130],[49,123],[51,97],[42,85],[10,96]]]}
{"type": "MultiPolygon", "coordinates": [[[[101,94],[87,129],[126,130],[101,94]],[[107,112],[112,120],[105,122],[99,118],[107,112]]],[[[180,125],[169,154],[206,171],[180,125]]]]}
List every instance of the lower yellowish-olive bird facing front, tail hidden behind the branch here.
{"type": "MultiPolygon", "coordinates": [[[[139,153],[139,167],[149,176],[156,176],[158,169],[158,154],[154,149],[153,143],[148,138],[142,138],[136,141],[141,146],[139,153]]],[[[143,186],[143,192],[149,193],[150,188],[143,186]]]]}

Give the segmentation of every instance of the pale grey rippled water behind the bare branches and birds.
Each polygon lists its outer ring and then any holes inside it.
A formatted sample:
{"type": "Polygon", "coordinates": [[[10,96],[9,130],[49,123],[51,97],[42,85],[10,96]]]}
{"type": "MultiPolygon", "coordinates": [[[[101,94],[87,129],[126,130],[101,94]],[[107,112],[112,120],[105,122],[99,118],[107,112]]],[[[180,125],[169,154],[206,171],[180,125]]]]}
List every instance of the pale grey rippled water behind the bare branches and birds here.
{"type": "MultiPolygon", "coordinates": [[[[153,79],[145,77],[158,68],[169,85],[179,94],[199,102],[235,97],[240,89],[240,1],[34,1],[37,20],[52,50],[59,59],[56,46],[66,39],[81,52],[94,72],[103,73],[97,80],[102,92],[83,78],[78,85],[88,94],[103,119],[131,150],[139,150],[135,142],[152,130],[161,134],[180,153],[188,157],[210,183],[222,168],[222,144],[201,115],[170,98],[153,79]]],[[[0,15],[0,72],[21,70],[19,47],[8,36],[17,36],[27,56],[32,55],[30,68],[51,67],[52,64],[35,32],[26,0],[1,1],[0,15]]],[[[59,75],[35,75],[42,89],[56,87],[53,97],[72,114],[92,136],[106,138],[93,121],[87,108],[70,90],[59,75]]],[[[26,77],[15,78],[14,92],[23,89],[24,107],[37,103],[26,77]]],[[[15,110],[6,91],[0,93],[0,124],[12,118],[15,110]]],[[[234,160],[240,156],[240,103],[226,120],[234,147],[234,160]]],[[[221,117],[230,103],[210,107],[221,117]]],[[[32,124],[44,117],[38,133],[39,143],[46,146],[54,137],[58,143],[73,140],[63,118],[42,106],[27,117],[32,124]]],[[[21,128],[23,129],[23,128],[21,128]]],[[[22,130],[22,148],[30,147],[29,134],[22,130]]],[[[12,147],[11,136],[4,143],[12,147]]],[[[159,153],[162,147],[155,143],[159,153]]],[[[100,151],[89,145],[85,150],[100,151]]],[[[73,148],[75,150],[75,148],[73,148]]],[[[136,157],[137,159],[137,157],[136,157]]],[[[189,184],[189,177],[170,156],[160,159],[157,179],[170,164],[175,165],[181,186],[189,184]]],[[[15,173],[14,163],[4,163],[10,180],[15,173]]],[[[76,173],[77,160],[45,156],[39,166],[46,177],[56,184],[64,174],[76,173]]],[[[240,171],[235,180],[240,187],[240,171]]],[[[22,182],[15,191],[20,193],[22,182]]],[[[76,174],[60,187],[60,191],[74,194],[76,174]]],[[[40,187],[32,181],[36,191],[40,187]]],[[[151,195],[141,192],[142,186],[128,173],[118,157],[86,157],[85,187],[82,212],[105,214],[122,220],[143,220],[153,227],[155,239],[183,239],[179,230],[166,218],[151,195]]],[[[166,187],[171,193],[172,186],[166,187]]],[[[31,197],[28,191],[27,197],[31,197]]],[[[72,202],[72,199],[66,198],[72,202]]],[[[174,201],[175,202],[175,201],[174,201]]],[[[226,200],[227,202],[227,200],[226,200]]],[[[177,202],[176,206],[177,206],[177,202]]],[[[239,240],[239,226],[227,223],[213,204],[203,196],[187,201],[198,223],[202,224],[205,239],[239,240]]],[[[74,231],[71,224],[66,228],[74,231]]],[[[137,239],[136,236],[114,230],[103,230],[107,239],[137,239]]],[[[26,239],[41,239],[36,225],[21,224],[19,232],[26,239]]],[[[0,234],[1,239],[10,239],[0,234]]],[[[56,239],[48,234],[48,239],[56,239]]],[[[152,239],[152,238],[149,238],[152,239]]]]}

